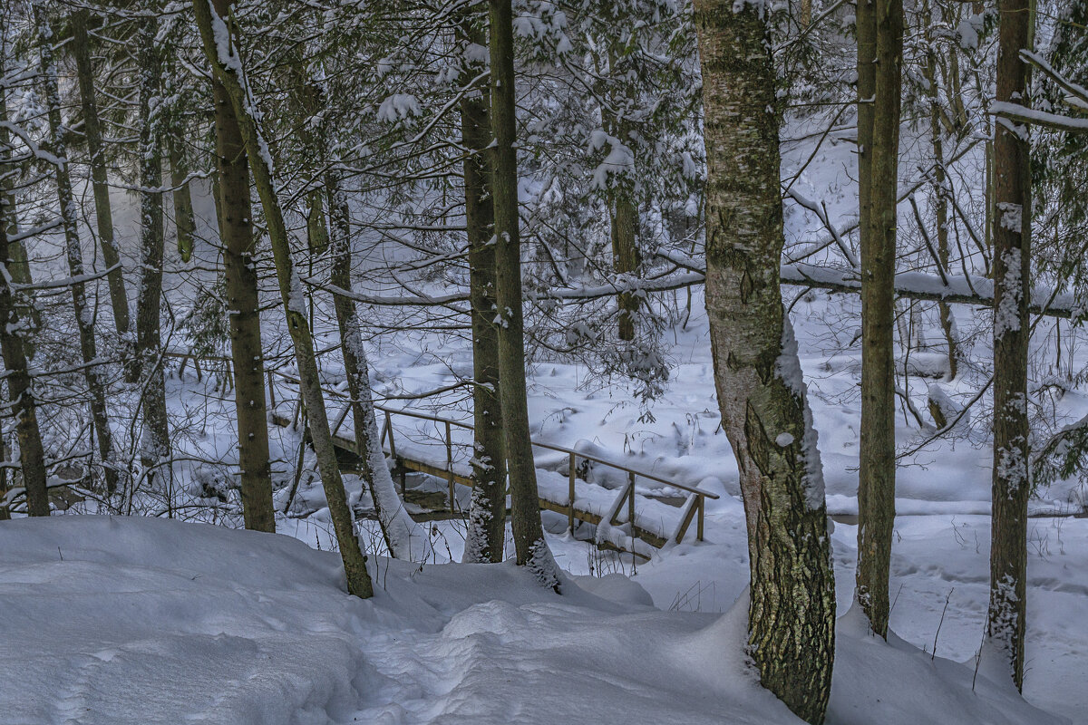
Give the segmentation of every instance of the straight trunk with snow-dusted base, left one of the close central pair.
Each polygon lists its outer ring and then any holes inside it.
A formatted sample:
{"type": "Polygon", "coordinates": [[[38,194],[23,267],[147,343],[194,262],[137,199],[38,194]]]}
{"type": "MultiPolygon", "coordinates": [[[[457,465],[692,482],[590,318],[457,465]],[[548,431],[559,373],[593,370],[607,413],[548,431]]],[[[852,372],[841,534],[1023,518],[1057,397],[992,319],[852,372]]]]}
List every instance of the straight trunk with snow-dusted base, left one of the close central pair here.
{"type": "MultiPolygon", "coordinates": [[[[486,46],[482,15],[468,15],[457,26],[462,43],[486,46]]],[[[461,85],[486,70],[484,63],[467,64],[461,85]]],[[[506,543],[506,446],[503,440],[503,407],[499,400],[498,327],[495,325],[495,210],[491,197],[491,95],[480,92],[461,99],[461,145],[465,157],[465,225],[469,243],[469,297],[472,305],[472,504],[465,540],[466,562],[503,561],[506,543]]]]}

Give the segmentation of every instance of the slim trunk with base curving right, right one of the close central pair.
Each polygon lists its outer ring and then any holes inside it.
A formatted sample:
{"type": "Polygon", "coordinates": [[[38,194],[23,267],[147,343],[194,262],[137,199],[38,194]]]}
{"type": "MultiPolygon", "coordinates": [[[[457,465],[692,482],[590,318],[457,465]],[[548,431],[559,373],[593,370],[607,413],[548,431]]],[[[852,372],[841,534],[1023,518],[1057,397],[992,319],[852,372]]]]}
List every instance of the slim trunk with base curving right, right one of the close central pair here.
{"type": "Polygon", "coordinates": [[[542,586],[559,590],[559,571],[544,540],[536,467],[529,437],[526,349],[521,300],[521,237],[518,228],[518,155],[514,25],[510,0],[489,0],[491,120],[495,132],[492,193],[495,209],[495,297],[498,303],[498,377],[510,479],[510,526],[518,564],[542,586]]]}

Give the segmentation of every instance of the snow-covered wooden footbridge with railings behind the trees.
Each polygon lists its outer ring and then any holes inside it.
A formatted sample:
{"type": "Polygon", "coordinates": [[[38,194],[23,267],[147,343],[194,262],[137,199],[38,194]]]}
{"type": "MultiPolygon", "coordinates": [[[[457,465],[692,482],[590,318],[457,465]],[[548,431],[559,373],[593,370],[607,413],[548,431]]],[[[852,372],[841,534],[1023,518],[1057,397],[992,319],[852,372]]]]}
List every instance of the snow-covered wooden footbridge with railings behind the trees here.
{"type": "MultiPolygon", "coordinates": [[[[224,362],[230,364],[228,360],[224,362]]],[[[298,378],[292,375],[268,372],[271,420],[275,424],[284,427],[299,424],[301,405],[297,386],[298,378]]],[[[349,462],[360,455],[354,433],[344,430],[345,423],[350,422],[350,398],[334,388],[323,390],[330,412],[337,408],[333,401],[339,402],[331,429],[345,461],[342,465],[349,468],[349,462]]],[[[457,487],[474,485],[467,463],[471,458],[472,425],[391,405],[374,408],[383,418],[382,447],[393,462],[394,475],[399,476],[401,495],[408,474],[432,476],[446,484],[449,513],[463,513],[458,511],[457,487]],[[461,440],[457,439],[458,434],[461,440]]],[[[544,451],[536,458],[540,507],[566,516],[571,534],[580,522],[591,524],[596,527],[594,540],[598,547],[642,559],[650,559],[655,548],[683,541],[692,524],[695,539],[703,540],[706,499],[717,499],[714,491],[632,468],[597,451],[536,440],[532,443],[534,449],[544,451]],[[604,479],[610,486],[591,479],[604,479]]]]}

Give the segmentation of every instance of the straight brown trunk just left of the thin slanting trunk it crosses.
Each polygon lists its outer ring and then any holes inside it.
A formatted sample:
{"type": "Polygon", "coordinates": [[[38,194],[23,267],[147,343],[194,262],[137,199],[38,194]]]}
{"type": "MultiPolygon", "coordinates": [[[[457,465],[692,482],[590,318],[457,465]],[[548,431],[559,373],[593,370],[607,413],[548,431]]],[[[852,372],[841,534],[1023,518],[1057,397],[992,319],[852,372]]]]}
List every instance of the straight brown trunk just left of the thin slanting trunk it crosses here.
{"type": "Polygon", "coordinates": [[[234,410],[238,425],[242,513],[246,528],[275,532],[272,465],[269,460],[268,410],[264,398],[264,348],[254,261],[249,159],[231,99],[212,76],[215,104],[215,158],[219,236],[223,246],[226,307],[231,321],[234,410]]]}

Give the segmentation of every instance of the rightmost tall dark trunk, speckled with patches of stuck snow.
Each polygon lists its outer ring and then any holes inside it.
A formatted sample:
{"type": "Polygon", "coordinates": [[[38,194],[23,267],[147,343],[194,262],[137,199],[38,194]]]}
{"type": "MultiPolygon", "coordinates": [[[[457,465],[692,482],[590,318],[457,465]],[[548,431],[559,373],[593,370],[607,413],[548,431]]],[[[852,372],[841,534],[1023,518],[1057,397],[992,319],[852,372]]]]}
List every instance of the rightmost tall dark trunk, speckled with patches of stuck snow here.
{"type": "MultiPolygon", "coordinates": [[[[1029,0],[1000,0],[998,102],[1027,104],[1029,0]]],[[[1030,339],[1031,174],[1027,129],[999,120],[993,139],[993,490],[990,657],[1000,658],[1017,689],[1024,685],[1025,583],[1030,429],[1027,352],[1030,339]]]]}

